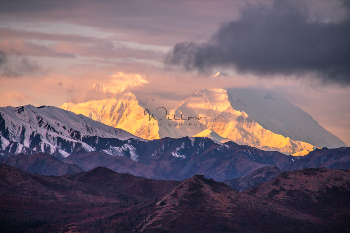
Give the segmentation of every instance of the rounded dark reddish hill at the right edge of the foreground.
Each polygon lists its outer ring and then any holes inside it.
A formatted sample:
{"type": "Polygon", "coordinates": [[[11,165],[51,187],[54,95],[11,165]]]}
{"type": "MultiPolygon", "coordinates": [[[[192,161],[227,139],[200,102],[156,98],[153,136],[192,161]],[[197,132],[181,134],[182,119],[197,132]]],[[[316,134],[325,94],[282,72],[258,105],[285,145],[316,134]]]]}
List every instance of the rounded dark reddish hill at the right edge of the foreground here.
{"type": "Polygon", "coordinates": [[[325,218],[339,229],[350,226],[349,169],[320,167],[286,172],[244,193],[325,218]]]}

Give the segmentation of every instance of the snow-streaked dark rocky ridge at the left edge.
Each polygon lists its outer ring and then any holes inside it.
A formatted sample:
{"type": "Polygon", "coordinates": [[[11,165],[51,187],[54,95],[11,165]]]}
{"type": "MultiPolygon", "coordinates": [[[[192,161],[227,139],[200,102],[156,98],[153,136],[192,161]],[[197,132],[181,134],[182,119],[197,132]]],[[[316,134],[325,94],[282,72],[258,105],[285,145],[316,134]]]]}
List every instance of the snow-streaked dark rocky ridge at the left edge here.
{"type": "Polygon", "coordinates": [[[94,151],[83,142],[87,137],[135,138],[125,130],[93,121],[84,115],[53,106],[0,108],[0,150],[2,154],[45,152],[66,157],[75,149],[94,151]]]}

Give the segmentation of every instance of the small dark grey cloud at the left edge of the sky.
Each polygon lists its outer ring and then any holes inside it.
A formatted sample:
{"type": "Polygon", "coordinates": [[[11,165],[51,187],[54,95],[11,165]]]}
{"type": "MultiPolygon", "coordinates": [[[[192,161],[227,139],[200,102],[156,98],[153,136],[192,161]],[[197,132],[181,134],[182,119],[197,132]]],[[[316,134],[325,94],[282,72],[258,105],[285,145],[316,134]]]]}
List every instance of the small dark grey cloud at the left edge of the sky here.
{"type": "Polygon", "coordinates": [[[26,57],[6,54],[0,50],[0,78],[18,78],[27,74],[35,74],[41,67],[26,57]]]}

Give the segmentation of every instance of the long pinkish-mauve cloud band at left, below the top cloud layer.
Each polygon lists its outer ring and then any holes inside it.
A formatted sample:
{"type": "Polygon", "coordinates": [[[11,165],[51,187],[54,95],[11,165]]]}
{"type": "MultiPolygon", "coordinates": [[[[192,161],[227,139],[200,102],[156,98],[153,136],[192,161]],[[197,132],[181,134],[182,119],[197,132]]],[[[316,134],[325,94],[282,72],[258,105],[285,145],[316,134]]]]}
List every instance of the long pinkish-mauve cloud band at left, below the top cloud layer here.
{"type": "Polygon", "coordinates": [[[14,30],[0,28],[0,49],[7,53],[20,53],[27,56],[48,56],[61,58],[96,57],[104,59],[134,58],[158,60],[161,62],[165,52],[131,48],[111,39],[77,34],[44,33],[37,31],[14,30]],[[50,45],[28,42],[30,39],[49,41],[50,45]]]}

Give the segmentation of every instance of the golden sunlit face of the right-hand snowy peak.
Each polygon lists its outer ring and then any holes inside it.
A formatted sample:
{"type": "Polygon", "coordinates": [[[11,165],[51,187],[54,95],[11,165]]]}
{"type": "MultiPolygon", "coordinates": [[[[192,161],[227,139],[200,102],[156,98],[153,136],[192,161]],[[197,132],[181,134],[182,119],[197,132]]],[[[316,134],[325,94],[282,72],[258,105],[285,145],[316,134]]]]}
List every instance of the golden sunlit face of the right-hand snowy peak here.
{"type": "MultiPolygon", "coordinates": [[[[192,94],[170,115],[186,114],[205,116],[205,127],[241,145],[250,145],[262,150],[294,154],[313,150],[313,145],[296,141],[263,128],[244,111],[232,108],[229,95],[224,89],[203,89],[192,94]]],[[[182,133],[184,130],[179,129],[182,133]]],[[[192,133],[192,132],[191,132],[192,133]]],[[[193,132],[194,133],[194,132],[193,132]]],[[[160,134],[162,137],[163,135],[160,134]]],[[[172,135],[170,135],[172,136],[172,135]]]]}

